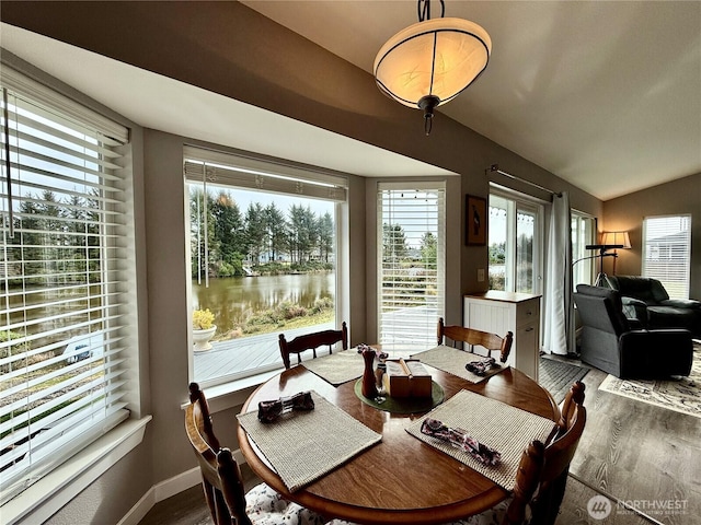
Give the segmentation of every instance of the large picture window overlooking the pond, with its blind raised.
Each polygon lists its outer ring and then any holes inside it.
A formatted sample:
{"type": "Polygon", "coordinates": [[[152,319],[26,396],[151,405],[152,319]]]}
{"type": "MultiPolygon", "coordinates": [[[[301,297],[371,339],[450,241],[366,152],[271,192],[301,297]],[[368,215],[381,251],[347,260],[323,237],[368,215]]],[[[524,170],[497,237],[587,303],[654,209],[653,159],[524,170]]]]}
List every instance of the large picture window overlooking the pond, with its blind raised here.
{"type": "Polygon", "coordinates": [[[278,336],[336,328],[337,223],[346,179],[186,148],[193,310],[209,310],[211,349],[194,381],[279,369],[278,336]]]}

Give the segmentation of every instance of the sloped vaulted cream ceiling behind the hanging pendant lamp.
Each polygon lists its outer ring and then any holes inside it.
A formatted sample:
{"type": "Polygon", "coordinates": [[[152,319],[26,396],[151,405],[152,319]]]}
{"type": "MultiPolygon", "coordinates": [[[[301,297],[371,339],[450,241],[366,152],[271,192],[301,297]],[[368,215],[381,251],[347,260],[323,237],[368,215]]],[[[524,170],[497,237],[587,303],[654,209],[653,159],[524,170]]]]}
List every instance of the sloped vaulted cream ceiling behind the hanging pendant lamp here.
{"type": "MultiPolygon", "coordinates": [[[[382,44],[417,21],[413,0],[242,3],[368,72],[382,44]]],[[[439,113],[601,200],[701,173],[701,2],[446,0],[445,9],[482,25],[493,49],[484,73],[439,113]]]]}

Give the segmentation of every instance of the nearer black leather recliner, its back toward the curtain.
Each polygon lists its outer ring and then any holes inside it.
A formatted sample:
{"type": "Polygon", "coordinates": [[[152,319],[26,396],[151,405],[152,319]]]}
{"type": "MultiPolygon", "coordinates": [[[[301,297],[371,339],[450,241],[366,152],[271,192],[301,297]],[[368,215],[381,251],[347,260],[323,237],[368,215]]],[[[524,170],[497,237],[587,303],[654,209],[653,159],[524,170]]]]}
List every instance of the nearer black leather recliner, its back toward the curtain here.
{"type": "Polygon", "coordinates": [[[577,284],[574,302],[583,325],[583,362],[620,378],[664,378],[691,372],[689,330],[632,329],[616,290],[577,284]]]}

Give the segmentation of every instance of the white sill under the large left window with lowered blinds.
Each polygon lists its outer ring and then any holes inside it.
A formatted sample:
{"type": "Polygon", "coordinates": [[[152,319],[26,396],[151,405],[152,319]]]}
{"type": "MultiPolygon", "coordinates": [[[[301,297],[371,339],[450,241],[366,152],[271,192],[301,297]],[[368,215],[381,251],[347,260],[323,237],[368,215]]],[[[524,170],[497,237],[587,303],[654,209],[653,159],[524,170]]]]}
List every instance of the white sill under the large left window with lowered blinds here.
{"type": "Polygon", "coordinates": [[[27,516],[44,523],[138,446],[150,420],[151,416],[127,420],[70,457],[2,505],[2,523],[12,525],[27,516]]]}

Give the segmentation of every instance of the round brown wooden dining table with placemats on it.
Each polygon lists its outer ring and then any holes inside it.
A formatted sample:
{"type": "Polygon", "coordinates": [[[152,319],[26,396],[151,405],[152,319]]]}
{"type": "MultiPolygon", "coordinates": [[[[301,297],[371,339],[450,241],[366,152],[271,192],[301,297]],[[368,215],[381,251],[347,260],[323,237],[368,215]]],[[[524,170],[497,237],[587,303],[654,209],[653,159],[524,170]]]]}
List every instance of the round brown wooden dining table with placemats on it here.
{"type": "MultiPolygon", "coordinates": [[[[461,389],[556,421],[560,410],[548,390],[509,368],[473,384],[426,365],[449,399],[461,389]]],[[[261,385],[242,413],[262,400],[314,390],[355,419],[382,434],[382,441],[310,485],[290,492],[239,425],[239,446],[251,469],[285,499],[329,518],[360,524],[439,524],[483,512],[508,497],[494,481],[405,431],[423,413],[390,413],[367,405],[354,392],[355,381],[337,387],[302,365],[285,370],[261,385]]],[[[425,413],[425,412],[424,412],[425,413]]],[[[319,428],[323,443],[329,430],[319,428]]]]}

